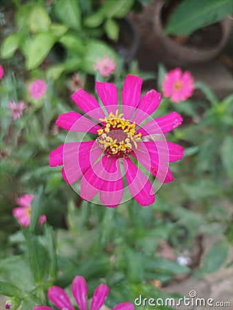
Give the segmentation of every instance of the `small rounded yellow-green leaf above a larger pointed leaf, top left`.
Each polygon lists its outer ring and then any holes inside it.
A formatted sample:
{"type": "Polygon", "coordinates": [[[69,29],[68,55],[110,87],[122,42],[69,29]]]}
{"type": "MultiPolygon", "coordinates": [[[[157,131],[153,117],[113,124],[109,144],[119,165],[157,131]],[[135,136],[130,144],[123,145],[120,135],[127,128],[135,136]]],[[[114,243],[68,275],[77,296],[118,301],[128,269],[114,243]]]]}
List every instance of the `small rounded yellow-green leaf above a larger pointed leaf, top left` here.
{"type": "Polygon", "coordinates": [[[46,32],[50,27],[51,19],[42,6],[34,6],[31,14],[29,26],[30,30],[34,33],[36,32],[46,32]]]}

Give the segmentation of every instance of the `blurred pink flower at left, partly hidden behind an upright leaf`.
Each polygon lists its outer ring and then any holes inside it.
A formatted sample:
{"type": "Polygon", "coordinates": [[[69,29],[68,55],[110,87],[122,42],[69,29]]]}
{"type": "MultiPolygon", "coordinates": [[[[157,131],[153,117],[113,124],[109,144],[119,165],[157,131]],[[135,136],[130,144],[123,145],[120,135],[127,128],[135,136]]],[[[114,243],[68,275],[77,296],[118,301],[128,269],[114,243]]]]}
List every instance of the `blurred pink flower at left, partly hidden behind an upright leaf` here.
{"type": "MultiPolygon", "coordinates": [[[[31,202],[34,198],[32,194],[26,194],[17,199],[17,205],[19,207],[14,208],[12,210],[13,216],[17,218],[19,223],[24,227],[28,227],[30,225],[30,218],[31,218],[31,202]]],[[[42,226],[46,220],[45,215],[41,215],[39,218],[39,225],[42,226]]]]}

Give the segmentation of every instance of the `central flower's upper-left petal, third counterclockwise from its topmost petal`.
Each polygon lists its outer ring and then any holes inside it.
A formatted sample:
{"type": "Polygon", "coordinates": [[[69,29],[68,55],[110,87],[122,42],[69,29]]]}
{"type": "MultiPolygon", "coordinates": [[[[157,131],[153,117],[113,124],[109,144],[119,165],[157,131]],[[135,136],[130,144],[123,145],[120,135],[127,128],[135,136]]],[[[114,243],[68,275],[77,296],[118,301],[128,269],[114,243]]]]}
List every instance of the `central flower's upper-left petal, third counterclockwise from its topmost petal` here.
{"type": "Polygon", "coordinates": [[[90,121],[90,119],[77,112],[68,112],[59,115],[56,124],[65,129],[72,130],[73,132],[91,132],[92,134],[97,134],[97,130],[101,127],[99,125],[90,121]]]}

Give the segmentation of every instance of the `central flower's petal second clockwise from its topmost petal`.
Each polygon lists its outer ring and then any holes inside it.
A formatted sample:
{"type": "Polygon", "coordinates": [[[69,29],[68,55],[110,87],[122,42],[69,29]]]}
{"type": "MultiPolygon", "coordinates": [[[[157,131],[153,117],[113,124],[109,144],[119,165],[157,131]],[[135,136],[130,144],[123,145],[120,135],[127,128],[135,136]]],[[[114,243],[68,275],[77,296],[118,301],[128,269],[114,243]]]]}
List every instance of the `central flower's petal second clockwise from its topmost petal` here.
{"type": "Polygon", "coordinates": [[[155,118],[149,123],[146,123],[142,128],[139,128],[137,132],[141,132],[142,136],[161,134],[161,132],[170,132],[171,130],[174,130],[174,128],[181,125],[182,121],[183,118],[180,114],[171,112],[170,114],[155,118]]]}

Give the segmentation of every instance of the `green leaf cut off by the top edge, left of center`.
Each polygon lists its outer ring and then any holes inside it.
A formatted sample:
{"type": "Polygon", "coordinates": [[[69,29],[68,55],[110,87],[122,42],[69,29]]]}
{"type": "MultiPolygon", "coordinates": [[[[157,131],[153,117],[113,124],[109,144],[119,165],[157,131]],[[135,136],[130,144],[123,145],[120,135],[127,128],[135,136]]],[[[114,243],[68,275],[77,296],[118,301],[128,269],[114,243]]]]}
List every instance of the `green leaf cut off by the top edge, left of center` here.
{"type": "Polygon", "coordinates": [[[81,10],[77,0],[56,0],[54,13],[59,21],[69,25],[74,30],[81,28],[81,10]]]}

